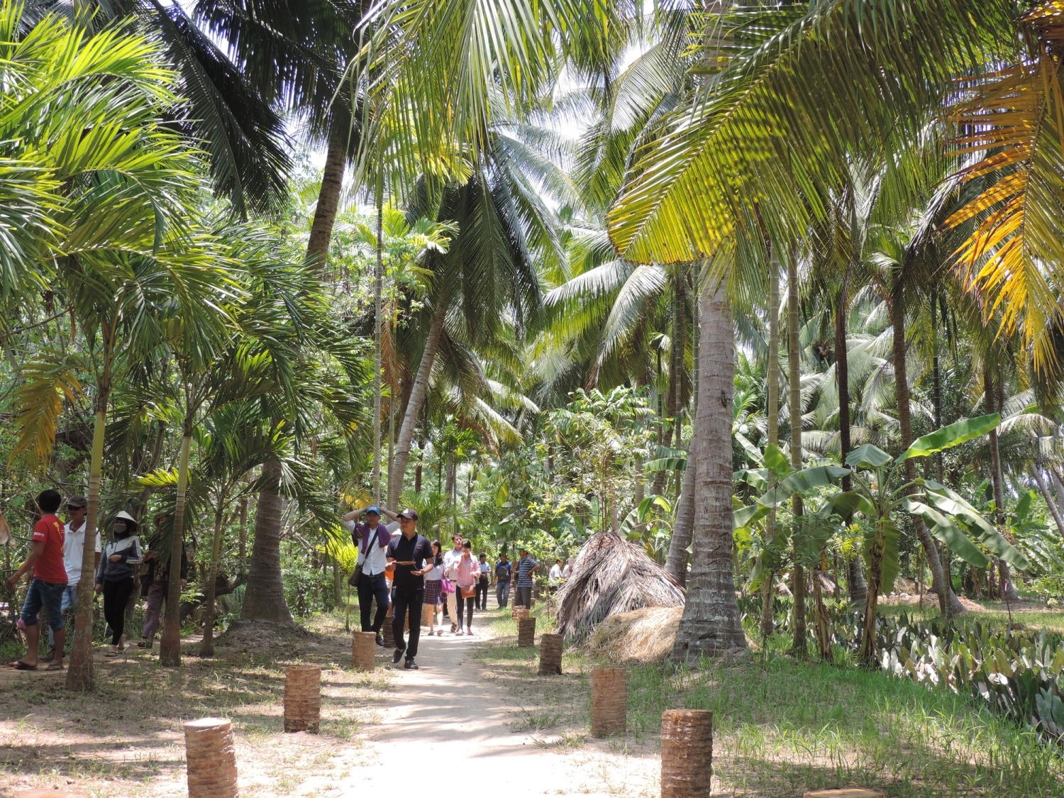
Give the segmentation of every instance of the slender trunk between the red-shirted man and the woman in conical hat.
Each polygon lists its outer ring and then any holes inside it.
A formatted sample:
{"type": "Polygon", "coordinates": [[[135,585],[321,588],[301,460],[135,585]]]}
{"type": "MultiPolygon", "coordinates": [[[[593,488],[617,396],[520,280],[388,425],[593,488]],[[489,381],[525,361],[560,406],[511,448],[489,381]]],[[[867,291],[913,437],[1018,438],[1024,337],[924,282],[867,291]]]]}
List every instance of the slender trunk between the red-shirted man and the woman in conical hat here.
{"type": "MultiPolygon", "coordinates": [[[[107,376],[110,377],[109,372],[107,376]]],[[[103,382],[103,381],[101,381],[103,382]]],[[[100,475],[103,468],[103,433],[107,422],[110,380],[98,386],[96,421],[93,426],[93,453],[88,465],[88,512],[85,514],[85,546],[81,555],[78,583],[78,611],[74,615],[73,651],[67,666],[68,689],[87,692],[96,689],[93,675],[93,591],[96,583],[95,530],[100,516],[100,475]]]]}

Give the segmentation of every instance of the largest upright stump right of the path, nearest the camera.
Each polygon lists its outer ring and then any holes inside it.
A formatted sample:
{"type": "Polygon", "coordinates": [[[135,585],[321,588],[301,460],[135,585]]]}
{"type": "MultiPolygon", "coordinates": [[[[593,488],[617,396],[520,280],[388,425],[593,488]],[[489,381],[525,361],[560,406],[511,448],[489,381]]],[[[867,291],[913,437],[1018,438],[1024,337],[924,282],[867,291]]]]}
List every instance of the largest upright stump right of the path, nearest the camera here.
{"type": "Polygon", "coordinates": [[[662,713],[662,798],[709,798],[713,776],[713,713],[662,713]]]}

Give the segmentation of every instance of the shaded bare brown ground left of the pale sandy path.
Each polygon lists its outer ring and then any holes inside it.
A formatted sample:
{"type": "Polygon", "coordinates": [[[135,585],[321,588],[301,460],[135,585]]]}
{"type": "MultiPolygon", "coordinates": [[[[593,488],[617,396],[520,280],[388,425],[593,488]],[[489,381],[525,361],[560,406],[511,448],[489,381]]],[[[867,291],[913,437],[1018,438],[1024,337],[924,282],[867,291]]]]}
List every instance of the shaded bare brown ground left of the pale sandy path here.
{"type": "Polygon", "coordinates": [[[161,667],[157,647],[99,656],[90,694],[68,692],[64,674],[0,670],[0,794],[185,796],[182,724],[207,716],[233,720],[242,796],[290,795],[307,774],[327,776],[340,750],[361,745],[390,672],[351,671],[351,638],[331,618],[305,633],[239,632],[218,642],[216,659],[186,643],[180,668],[161,667]],[[321,666],[319,734],[283,733],[284,669],[297,663],[321,666]]]}

